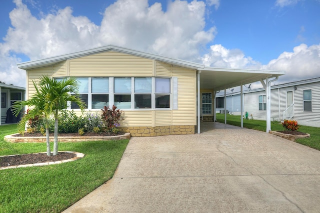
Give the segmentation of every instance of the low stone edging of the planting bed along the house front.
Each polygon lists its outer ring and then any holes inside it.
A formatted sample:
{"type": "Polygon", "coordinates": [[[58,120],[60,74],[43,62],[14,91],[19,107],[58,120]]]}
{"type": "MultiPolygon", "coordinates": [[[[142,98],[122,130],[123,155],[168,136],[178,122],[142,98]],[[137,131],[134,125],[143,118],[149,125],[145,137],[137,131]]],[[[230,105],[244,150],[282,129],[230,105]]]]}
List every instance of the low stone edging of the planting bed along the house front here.
{"type": "MultiPolygon", "coordinates": [[[[16,135],[6,135],[4,136],[4,140],[12,143],[41,143],[46,142],[46,137],[18,137],[13,136],[16,135]]],[[[53,137],[49,137],[50,141],[53,141],[53,137]]],[[[58,137],[58,142],[81,142],[81,141],[114,141],[114,140],[123,140],[130,139],[130,133],[124,133],[123,135],[115,135],[115,136],[61,136],[58,137]]]]}

